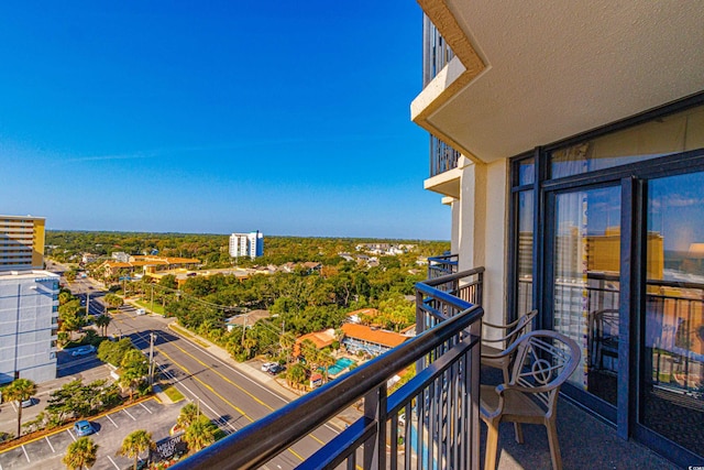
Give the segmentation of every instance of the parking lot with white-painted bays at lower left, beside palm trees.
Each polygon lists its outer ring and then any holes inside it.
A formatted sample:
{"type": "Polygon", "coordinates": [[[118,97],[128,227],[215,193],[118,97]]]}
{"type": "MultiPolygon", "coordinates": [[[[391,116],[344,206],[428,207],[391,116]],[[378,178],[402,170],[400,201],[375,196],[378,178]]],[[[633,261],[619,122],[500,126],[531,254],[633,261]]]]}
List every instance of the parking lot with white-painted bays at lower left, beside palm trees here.
{"type": "MultiPolygon", "coordinates": [[[[98,460],[92,468],[118,470],[131,468],[132,459],[116,456],[122,439],[136,429],[146,429],[152,433],[152,439],[155,441],[167,437],[184,403],[165,405],[150,398],[89,419],[96,429],[91,438],[99,446],[98,460]]],[[[76,439],[74,429],[69,427],[8,449],[0,453],[0,470],[64,469],[66,466],[62,463],[62,458],[68,445],[76,439]]]]}

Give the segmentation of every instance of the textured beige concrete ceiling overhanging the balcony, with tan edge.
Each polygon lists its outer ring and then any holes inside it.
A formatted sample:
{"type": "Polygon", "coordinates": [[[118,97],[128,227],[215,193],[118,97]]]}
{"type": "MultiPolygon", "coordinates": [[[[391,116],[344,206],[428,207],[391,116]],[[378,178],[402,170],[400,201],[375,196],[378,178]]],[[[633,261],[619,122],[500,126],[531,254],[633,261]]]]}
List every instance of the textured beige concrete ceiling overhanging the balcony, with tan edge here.
{"type": "Polygon", "coordinates": [[[704,89],[701,1],[418,0],[455,53],[411,119],[492,162],[704,89]]]}

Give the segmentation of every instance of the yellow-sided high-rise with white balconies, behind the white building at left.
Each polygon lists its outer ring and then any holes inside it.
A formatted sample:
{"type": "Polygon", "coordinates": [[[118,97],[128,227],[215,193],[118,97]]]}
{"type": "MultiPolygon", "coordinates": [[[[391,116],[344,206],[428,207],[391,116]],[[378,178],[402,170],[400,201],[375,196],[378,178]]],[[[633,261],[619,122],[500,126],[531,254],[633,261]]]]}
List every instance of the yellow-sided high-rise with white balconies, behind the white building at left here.
{"type": "Polygon", "coordinates": [[[0,271],[44,267],[44,218],[0,216],[0,271]]]}

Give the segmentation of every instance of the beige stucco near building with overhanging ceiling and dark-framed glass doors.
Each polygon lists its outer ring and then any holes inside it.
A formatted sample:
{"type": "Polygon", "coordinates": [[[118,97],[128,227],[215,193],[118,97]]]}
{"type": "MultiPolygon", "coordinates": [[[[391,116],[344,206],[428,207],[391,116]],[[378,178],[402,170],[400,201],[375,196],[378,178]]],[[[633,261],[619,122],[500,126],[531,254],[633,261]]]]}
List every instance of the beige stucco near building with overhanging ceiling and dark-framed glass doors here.
{"type": "Polygon", "coordinates": [[[704,8],[419,3],[425,187],[487,321],[538,308],[582,346],[565,396],[704,461],[704,8]]]}

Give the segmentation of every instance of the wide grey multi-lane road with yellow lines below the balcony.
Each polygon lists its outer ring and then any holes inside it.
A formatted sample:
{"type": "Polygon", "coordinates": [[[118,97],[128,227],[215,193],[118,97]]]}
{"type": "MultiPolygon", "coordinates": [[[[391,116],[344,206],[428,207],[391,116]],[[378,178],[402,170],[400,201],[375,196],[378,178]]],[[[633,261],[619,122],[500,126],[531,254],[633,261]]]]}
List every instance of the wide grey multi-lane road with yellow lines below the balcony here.
{"type": "MultiPolygon", "coordinates": [[[[72,292],[85,296],[90,294],[91,313],[102,313],[102,295],[97,285],[88,280],[77,280],[72,292]]],[[[238,365],[224,354],[215,354],[191,339],[186,339],[168,327],[173,319],[156,315],[138,316],[132,306],[120,308],[112,315],[108,332],[129,337],[145,354],[150,352],[150,335],[154,334],[154,360],[163,376],[200,409],[212,418],[226,433],[233,433],[248,424],[266,416],[287,404],[290,398],[272,378],[256,372],[253,367],[238,365]],[[249,373],[243,370],[249,369],[249,373]],[[254,372],[252,372],[254,371],[254,372]]],[[[270,469],[294,468],[310,456],[323,442],[339,433],[336,425],[328,424],[311,436],[297,442],[272,462],[270,469]]]]}

